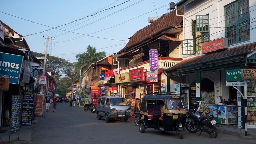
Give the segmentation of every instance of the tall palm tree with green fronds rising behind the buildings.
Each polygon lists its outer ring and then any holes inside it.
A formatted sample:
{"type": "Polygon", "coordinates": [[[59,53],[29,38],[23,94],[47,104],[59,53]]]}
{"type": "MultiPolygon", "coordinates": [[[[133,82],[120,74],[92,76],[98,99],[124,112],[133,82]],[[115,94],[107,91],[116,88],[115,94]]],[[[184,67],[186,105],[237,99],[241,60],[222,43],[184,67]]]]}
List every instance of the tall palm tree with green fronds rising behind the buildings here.
{"type": "Polygon", "coordinates": [[[99,61],[100,59],[106,57],[106,52],[97,52],[96,48],[88,45],[86,47],[86,52],[77,54],[75,58],[78,58],[77,63],[75,64],[75,69],[87,69],[92,63],[99,61]]]}

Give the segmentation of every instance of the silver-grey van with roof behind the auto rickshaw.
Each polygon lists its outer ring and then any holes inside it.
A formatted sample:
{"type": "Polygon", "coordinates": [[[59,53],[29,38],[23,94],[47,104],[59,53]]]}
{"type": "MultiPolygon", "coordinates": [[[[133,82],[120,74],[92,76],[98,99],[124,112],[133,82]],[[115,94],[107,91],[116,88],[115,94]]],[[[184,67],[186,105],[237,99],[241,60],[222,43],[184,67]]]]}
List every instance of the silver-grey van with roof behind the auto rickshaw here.
{"type": "Polygon", "coordinates": [[[131,108],[126,98],[121,97],[99,97],[96,114],[100,120],[105,117],[105,121],[109,122],[110,119],[118,119],[127,121],[130,117],[131,108]]]}

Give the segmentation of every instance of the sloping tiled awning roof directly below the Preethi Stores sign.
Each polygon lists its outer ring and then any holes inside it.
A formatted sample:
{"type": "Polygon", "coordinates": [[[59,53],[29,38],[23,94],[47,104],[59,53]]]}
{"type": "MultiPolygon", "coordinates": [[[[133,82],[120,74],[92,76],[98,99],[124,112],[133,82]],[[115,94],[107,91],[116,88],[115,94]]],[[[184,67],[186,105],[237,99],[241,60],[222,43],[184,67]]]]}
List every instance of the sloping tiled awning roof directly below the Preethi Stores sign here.
{"type": "Polygon", "coordinates": [[[246,45],[241,45],[234,48],[229,48],[224,51],[214,52],[210,54],[200,55],[193,58],[185,59],[179,63],[177,63],[175,66],[172,66],[171,68],[168,68],[165,71],[175,70],[183,67],[188,66],[196,66],[198,64],[207,63],[210,61],[218,61],[218,60],[224,60],[226,57],[236,57],[236,56],[242,56],[252,53],[253,51],[256,51],[256,42],[250,43],[246,45]]]}

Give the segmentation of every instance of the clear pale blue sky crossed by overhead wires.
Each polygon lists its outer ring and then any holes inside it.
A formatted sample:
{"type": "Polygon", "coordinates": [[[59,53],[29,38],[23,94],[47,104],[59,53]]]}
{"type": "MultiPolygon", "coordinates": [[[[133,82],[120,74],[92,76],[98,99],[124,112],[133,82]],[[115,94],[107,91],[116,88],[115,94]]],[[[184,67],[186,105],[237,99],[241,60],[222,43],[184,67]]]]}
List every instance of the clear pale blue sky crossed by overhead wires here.
{"type": "Polygon", "coordinates": [[[48,54],[73,63],[88,45],[107,55],[117,53],[128,38],[150,24],[148,17],[159,18],[169,12],[170,2],[178,1],[1,0],[0,20],[23,35],[33,52],[45,52],[43,36],[54,38],[48,54]]]}

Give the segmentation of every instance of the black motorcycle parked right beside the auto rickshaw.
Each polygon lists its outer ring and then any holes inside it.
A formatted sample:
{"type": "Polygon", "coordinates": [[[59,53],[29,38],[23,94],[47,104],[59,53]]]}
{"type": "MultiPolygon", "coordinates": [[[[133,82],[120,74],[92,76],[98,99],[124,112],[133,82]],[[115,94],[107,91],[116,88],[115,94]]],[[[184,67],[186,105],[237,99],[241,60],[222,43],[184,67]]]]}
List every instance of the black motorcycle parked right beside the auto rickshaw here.
{"type": "Polygon", "coordinates": [[[213,120],[213,115],[202,117],[199,113],[196,113],[199,103],[194,102],[193,106],[194,109],[187,112],[187,118],[189,119],[185,124],[187,131],[191,133],[201,131],[200,134],[204,131],[209,134],[211,138],[216,138],[218,131],[216,128],[216,120],[213,120]]]}

